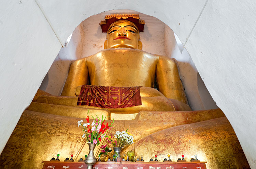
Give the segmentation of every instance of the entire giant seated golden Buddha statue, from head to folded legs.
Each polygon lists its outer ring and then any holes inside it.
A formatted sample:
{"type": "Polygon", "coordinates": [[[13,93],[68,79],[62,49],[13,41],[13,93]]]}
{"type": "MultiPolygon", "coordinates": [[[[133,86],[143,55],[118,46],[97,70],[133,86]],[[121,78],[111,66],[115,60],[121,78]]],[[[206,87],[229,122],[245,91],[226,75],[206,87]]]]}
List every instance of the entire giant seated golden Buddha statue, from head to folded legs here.
{"type": "MultiPolygon", "coordinates": [[[[119,19],[122,16],[117,15],[119,19]]],[[[141,28],[134,22],[106,23],[104,50],[72,63],[62,96],[37,92],[0,156],[0,168],[42,168],[43,160],[57,154],[61,161],[70,154],[75,161],[84,157],[89,149],[77,121],[86,121],[88,109],[91,115],[111,116],[109,123],[115,117],[108,135],[126,129],[133,134],[134,144],[125,147],[121,155],[132,150],[146,162],[154,155],[160,161],[171,154],[175,161],[181,154],[186,160],[197,154],[199,160],[208,162],[208,169],[249,168],[223,112],[187,111],[190,108],[176,64],[142,51],[141,28]],[[77,106],[81,85],[87,84],[142,86],[142,105],[116,109],[77,106]]],[[[102,139],[99,146],[105,143],[102,139]]],[[[99,146],[94,151],[96,157],[99,146]]]]}

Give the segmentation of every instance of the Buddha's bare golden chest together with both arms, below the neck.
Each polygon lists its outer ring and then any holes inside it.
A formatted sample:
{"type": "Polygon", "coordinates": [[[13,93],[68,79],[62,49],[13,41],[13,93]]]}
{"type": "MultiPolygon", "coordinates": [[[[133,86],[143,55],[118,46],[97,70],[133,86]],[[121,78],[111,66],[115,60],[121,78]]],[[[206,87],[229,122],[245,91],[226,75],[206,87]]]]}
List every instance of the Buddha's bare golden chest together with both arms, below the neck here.
{"type": "Polygon", "coordinates": [[[105,49],[75,61],[71,64],[62,96],[67,93],[70,93],[68,96],[75,96],[75,88],[83,85],[80,83],[81,79],[86,79],[86,82],[90,80],[91,85],[101,86],[144,86],[151,88],[158,86],[159,91],[167,98],[186,103],[176,63],[166,57],[138,49],[105,49]],[[84,67],[85,70],[80,70],[81,67],[84,67]],[[89,77],[79,74],[80,71],[87,71],[87,69],[89,77]],[[155,84],[155,77],[157,77],[157,84],[155,84]],[[69,87],[66,87],[67,85],[69,87]]]}

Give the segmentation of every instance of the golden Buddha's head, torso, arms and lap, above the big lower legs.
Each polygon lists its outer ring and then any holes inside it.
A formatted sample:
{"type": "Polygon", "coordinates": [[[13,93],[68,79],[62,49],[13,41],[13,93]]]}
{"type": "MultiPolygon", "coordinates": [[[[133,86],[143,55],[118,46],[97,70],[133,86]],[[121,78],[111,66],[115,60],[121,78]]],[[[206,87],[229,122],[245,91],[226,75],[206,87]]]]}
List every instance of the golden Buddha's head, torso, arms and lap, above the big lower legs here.
{"type": "MultiPolygon", "coordinates": [[[[109,26],[104,50],[71,64],[62,97],[41,96],[37,102],[77,107],[76,96],[81,85],[87,84],[142,86],[142,105],[108,108],[112,119],[133,119],[140,111],[191,110],[176,63],[168,57],[142,51],[139,28],[129,20],[117,20],[109,26]]],[[[32,106],[30,110],[34,110],[32,106]]]]}

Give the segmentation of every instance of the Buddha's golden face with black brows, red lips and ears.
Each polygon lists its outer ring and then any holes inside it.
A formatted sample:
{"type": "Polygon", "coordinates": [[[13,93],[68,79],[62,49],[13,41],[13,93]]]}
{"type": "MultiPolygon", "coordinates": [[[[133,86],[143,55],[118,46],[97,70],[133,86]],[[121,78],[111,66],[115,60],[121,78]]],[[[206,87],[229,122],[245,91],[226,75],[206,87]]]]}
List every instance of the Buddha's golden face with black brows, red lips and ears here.
{"type": "Polygon", "coordinates": [[[139,39],[140,34],[136,24],[127,20],[119,20],[110,25],[104,48],[141,49],[142,43],[139,39]]]}

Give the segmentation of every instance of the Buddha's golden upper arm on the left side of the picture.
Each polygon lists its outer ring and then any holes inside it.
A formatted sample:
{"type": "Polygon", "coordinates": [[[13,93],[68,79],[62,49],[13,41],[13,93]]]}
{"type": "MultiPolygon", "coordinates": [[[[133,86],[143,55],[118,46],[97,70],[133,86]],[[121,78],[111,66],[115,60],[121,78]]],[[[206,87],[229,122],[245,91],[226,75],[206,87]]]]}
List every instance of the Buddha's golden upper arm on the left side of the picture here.
{"type": "Polygon", "coordinates": [[[74,61],[70,65],[61,96],[75,96],[75,88],[80,85],[87,85],[88,79],[88,68],[85,58],[74,61]]]}

